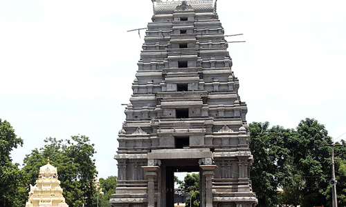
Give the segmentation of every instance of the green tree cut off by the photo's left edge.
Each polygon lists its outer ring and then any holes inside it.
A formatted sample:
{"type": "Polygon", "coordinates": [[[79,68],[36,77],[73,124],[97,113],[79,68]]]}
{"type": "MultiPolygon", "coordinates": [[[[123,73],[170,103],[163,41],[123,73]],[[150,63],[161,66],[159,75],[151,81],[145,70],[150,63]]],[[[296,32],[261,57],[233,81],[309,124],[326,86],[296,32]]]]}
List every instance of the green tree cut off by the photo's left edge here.
{"type": "Polygon", "coordinates": [[[18,164],[12,164],[11,151],[23,146],[8,121],[0,119],[0,206],[21,206],[21,172],[18,164]]]}

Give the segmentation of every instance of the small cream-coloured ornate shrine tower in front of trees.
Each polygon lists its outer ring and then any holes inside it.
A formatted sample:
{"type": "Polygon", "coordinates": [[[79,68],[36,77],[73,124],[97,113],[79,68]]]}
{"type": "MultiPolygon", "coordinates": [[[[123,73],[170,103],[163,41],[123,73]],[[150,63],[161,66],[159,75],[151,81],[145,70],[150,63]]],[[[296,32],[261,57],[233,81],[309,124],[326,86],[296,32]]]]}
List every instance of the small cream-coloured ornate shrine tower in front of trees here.
{"type": "Polygon", "coordinates": [[[48,164],[39,168],[39,178],[35,186],[30,185],[26,207],[69,207],[62,196],[57,168],[48,164]]]}

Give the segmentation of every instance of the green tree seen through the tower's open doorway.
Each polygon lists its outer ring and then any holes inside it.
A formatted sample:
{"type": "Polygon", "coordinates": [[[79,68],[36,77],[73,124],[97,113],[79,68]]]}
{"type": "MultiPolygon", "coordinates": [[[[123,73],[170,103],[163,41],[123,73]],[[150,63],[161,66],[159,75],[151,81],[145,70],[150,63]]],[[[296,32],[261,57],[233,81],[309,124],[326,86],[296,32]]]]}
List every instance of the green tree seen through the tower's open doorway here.
{"type": "Polygon", "coordinates": [[[199,173],[192,173],[191,175],[190,174],[186,175],[184,177],[184,181],[183,181],[183,184],[181,186],[185,190],[185,193],[190,194],[190,196],[186,199],[186,206],[191,207],[190,206],[190,202],[191,202],[192,207],[199,207],[199,204],[200,204],[199,173]]]}

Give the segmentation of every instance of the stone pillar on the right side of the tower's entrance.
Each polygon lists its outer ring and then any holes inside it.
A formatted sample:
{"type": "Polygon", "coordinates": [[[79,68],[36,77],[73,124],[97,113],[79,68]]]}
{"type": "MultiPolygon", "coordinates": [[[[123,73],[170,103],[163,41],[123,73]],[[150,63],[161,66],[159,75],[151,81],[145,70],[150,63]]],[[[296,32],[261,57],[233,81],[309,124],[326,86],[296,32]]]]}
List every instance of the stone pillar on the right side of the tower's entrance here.
{"type": "Polygon", "coordinates": [[[203,177],[205,177],[205,206],[212,207],[212,177],[214,177],[214,170],[217,168],[215,165],[202,165],[203,177]]]}

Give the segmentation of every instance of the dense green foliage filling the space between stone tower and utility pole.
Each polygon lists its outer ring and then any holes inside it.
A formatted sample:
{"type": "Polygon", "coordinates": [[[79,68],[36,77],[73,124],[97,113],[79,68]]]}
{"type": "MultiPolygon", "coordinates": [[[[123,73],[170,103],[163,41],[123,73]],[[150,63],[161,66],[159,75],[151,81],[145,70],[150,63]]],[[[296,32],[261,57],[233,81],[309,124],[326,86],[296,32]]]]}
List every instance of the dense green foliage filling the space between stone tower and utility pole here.
{"type": "Polygon", "coordinates": [[[324,145],[332,144],[332,139],[325,126],[304,119],[295,130],[269,128],[268,122],[254,122],[249,130],[254,157],[251,179],[259,207],[329,205],[331,150],[324,145]]]}

